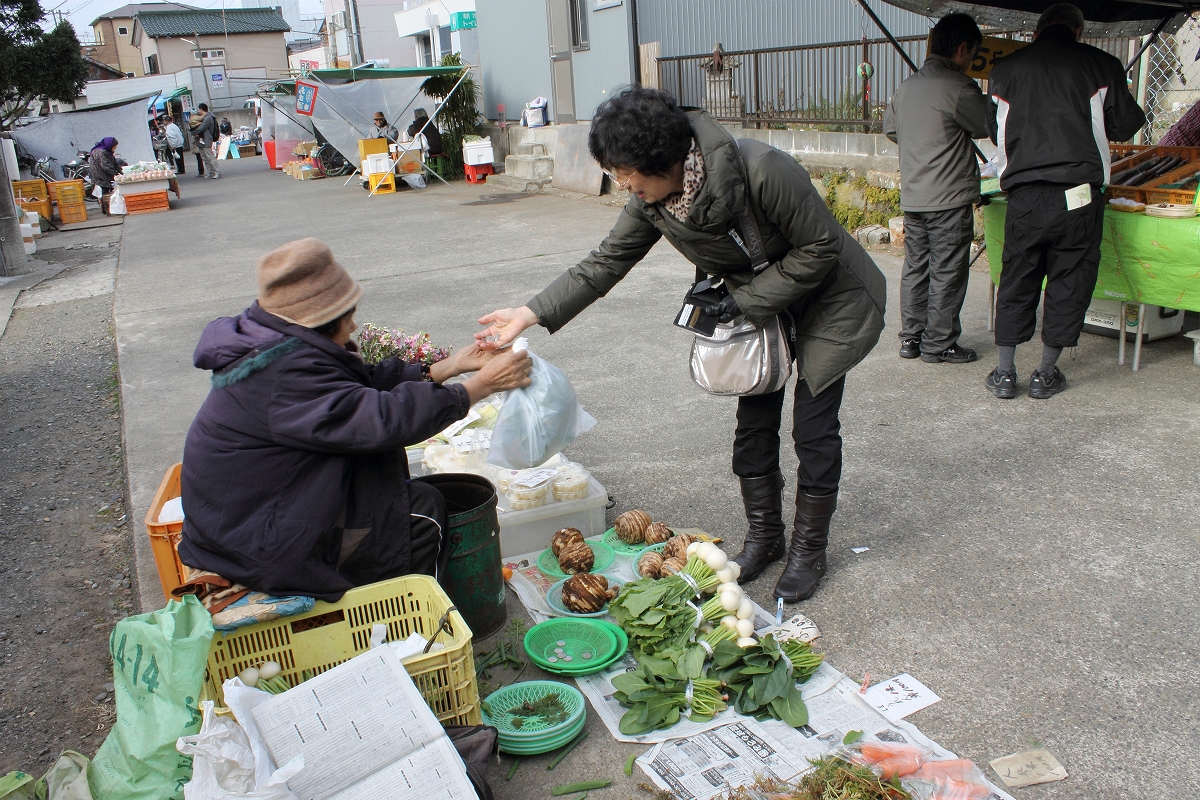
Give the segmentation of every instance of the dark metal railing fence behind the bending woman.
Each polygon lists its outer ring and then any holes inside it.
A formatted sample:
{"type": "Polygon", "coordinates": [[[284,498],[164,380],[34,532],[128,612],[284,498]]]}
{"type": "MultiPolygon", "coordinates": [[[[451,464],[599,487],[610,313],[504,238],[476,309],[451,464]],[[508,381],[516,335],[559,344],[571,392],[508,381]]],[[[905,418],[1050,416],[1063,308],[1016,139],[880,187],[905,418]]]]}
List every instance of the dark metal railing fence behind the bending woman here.
{"type": "MultiPolygon", "coordinates": [[[[924,36],[899,42],[913,61],[924,60],[924,36]]],[[[880,130],[888,98],[910,72],[883,38],[732,50],[722,58],[722,68],[713,54],[661,58],[659,86],[720,120],[871,132],[880,130]],[[874,71],[869,80],[859,77],[864,64],[874,71]]]]}

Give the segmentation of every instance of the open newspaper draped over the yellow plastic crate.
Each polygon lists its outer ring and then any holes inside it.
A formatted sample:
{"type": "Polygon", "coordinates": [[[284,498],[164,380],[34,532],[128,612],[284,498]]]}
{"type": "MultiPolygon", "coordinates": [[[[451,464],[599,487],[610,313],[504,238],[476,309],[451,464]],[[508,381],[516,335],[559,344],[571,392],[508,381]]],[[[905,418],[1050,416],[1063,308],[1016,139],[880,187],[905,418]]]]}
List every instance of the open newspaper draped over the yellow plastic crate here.
{"type": "Polygon", "coordinates": [[[391,648],[376,648],[251,712],[300,800],[469,800],[462,759],[391,648]],[[431,782],[428,776],[437,775],[431,782]]]}

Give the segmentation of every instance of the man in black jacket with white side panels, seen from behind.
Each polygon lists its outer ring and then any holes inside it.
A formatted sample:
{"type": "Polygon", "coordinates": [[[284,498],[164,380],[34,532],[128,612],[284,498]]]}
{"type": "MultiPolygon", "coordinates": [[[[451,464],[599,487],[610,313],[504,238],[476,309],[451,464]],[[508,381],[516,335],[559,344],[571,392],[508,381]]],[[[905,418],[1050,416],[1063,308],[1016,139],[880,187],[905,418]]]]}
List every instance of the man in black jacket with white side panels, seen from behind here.
{"type": "Polygon", "coordinates": [[[1050,6],[1033,43],[1000,61],[988,82],[1000,187],[1008,193],[996,303],[1000,365],[985,381],[1000,398],[1016,396],[1013,359],[1016,345],[1033,338],[1043,279],[1044,347],[1030,397],[1044,399],[1067,387],[1056,363],[1063,348],[1079,343],[1096,288],[1109,142],[1126,142],[1146,124],[1124,67],[1081,43],[1082,30],[1079,8],[1050,6]]]}

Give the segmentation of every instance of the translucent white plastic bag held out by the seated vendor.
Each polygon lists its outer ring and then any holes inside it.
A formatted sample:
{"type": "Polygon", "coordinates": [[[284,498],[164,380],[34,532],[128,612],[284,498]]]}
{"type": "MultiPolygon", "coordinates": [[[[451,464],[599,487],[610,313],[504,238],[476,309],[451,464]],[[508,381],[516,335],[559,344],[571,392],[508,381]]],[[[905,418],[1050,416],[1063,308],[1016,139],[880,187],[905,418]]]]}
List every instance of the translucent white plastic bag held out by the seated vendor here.
{"type": "MultiPolygon", "coordinates": [[[[524,349],[517,339],[514,349],[524,349]]],[[[563,371],[533,353],[533,383],[504,396],[492,431],[487,463],[508,469],[528,469],[557,456],[596,421],[580,405],[575,387],[563,371]]]]}

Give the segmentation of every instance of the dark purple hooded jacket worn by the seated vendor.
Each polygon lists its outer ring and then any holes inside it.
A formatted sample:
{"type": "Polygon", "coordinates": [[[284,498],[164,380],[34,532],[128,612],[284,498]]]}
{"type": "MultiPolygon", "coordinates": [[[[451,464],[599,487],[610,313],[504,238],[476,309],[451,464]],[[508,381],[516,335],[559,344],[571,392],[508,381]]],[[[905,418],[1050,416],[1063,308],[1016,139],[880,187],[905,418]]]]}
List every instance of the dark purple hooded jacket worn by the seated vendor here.
{"type": "Polygon", "coordinates": [[[193,357],[212,390],[184,446],[184,564],[329,601],[410,571],[403,447],[467,415],[463,386],[368,366],[257,302],[209,323],[193,357]]]}

